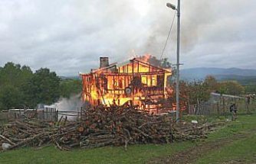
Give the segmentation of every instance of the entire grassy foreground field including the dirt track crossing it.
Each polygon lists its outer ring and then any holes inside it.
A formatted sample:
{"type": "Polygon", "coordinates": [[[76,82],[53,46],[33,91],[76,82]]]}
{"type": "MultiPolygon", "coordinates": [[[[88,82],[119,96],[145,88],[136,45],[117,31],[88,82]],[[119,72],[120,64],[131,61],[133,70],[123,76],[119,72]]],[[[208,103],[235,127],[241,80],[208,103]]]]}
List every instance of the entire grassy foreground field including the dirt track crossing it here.
{"type": "MultiPolygon", "coordinates": [[[[237,121],[210,133],[200,142],[170,143],[164,145],[135,145],[102,147],[92,150],[60,151],[54,146],[41,150],[21,148],[0,153],[0,163],[162,163],[182,159],[194,163],[252,163],[256,162],[256,114],[241,114],[237,121]],[[195,156],[185,156],[186,154],[195,156]]],[[[183,161],[184,162],[184,161],[183,161]]]]}

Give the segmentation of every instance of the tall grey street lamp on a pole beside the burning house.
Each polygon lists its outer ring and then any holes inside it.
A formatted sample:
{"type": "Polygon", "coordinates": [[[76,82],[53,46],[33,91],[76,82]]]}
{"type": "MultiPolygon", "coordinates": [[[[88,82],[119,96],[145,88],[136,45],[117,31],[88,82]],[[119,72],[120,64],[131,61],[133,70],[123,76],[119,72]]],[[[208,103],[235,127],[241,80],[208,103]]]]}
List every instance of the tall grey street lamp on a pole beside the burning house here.
{"type": "Polygon", "coordinates": [[[179,123],[179,40],[180,40],[180,0],[178,0],[178,7],[171,3],[166,3],[168,8],[177,11],[178,23],[177,23],[177,77],[176,77],[176,123],[179,123]]]}

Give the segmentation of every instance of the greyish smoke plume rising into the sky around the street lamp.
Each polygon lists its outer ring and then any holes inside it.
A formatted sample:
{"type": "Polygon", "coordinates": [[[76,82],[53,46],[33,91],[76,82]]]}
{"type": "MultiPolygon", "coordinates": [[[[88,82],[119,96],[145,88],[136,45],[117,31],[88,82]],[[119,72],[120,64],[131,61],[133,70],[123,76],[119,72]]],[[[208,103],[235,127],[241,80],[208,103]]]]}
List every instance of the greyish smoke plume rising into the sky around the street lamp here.
{"type": "MultiPolygon", "coordinates": [[[[166,1],[176,4],[176,1],[166,1]]],[[[193,49],[196,43],[200,41],[200,35],[205,28],[206,24],[212,24],[215,22],[215,6],[216,2],[212,1],[182,1],[181,8],[181,45],[182,53],[187,53],[193,49]]],[[[165,5],[164,1],[153,2],[151,8],[162,8],[165,5]]],[[[155,10],[152,10],[155,11],[155,10]]],[[[153,14],[153,13],[150,13],[153,14]]],[[[166,42],[166,37],[169,33],[169,28],[171,27],[172,18],[176,14],[170,8],[165,8],[164,10],[159,10],[158,14],[153,16],[153,24],[151,24],[151,29],[147,40],[145,43],[145,51],[159,56],[162,53],[162,48],[166,42]]],[[[176,53],[176,36],[177,36],[177,17],[175,16],[175,21],[172,26],[172,31],[168,40],[166,51],[164,55],[175,56],[176,53]]]]}

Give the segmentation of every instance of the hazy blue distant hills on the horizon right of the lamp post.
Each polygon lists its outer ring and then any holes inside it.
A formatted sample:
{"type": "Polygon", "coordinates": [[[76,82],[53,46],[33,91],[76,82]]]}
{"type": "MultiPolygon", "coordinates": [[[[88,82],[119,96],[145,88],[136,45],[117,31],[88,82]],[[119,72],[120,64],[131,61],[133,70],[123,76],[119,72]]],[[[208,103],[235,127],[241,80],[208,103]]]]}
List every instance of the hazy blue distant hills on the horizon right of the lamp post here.
{"type": "Polygon", "coordinates": [[[256,85],[256,69],[221,69],[221,68],[192,68],[182,69],[181,79],[192,81],[193,79],[205,79],[205,76],[215,76],[218,81],[236,80],[242,85],[256,85]]]}

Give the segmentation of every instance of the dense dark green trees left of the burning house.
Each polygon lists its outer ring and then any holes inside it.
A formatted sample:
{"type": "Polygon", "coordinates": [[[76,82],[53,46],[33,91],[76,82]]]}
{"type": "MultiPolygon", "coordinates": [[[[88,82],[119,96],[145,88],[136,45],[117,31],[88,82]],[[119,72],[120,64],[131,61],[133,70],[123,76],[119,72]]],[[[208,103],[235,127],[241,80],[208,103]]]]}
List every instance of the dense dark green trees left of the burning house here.
{"type": "Polygon", "coordinates": [[[0,67],[0,110],[51,105],[59,98],[81,92],[79,79],[61,79],[56,72],[6,63],[0,67]]]}

